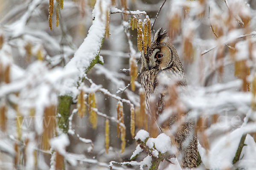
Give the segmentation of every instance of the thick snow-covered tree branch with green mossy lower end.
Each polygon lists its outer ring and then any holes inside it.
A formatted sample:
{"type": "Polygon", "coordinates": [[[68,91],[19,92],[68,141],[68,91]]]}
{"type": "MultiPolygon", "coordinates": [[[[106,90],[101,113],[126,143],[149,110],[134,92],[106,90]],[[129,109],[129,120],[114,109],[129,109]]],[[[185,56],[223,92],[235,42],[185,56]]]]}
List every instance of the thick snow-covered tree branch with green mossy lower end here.
{"type": "Polygon", "coordinates": [[[95,17],[93,25],[74,57],[65,66],[67,70],[75,70],[76,75],[73,79],[64,83],[64,88],[59,96],[58,112],[61,114],[59,122],[60,120],[65,120],[65,125],[59,123],[59,127],[64,133],[67,133],[68,130],[68,121],[66,120],[69,117],[72,99],[76,97],[77,86],[95,64],[103,64],[99,53],[105,38],[105,20],[108,17],[107,14],[109,14],[109,7],[110,0],[96,1],[93,10],[93,16],[95,17]]]}

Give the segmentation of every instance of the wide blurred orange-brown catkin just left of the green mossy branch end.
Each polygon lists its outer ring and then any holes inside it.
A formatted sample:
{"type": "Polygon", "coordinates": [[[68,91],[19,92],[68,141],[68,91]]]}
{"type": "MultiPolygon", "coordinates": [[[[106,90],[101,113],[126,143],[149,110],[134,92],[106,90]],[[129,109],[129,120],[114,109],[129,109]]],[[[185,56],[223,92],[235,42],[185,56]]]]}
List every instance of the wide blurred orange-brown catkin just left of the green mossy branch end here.
{"type": "Polygon", "coordinates": [[[42,145],[43,150],[49,150],[49,141],[53,137],[56,128],[55,122],[55,105],[50,105],[44,108],[42,145]]]}

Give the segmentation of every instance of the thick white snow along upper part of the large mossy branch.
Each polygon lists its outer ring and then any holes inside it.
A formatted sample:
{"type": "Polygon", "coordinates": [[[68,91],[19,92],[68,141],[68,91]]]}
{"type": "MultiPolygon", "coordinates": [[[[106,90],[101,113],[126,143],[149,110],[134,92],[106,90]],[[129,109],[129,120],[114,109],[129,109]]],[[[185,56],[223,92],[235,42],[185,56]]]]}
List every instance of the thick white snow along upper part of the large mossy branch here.
{"type": "Polygon", "coordinates": [[[75,52],[74,57],[65,66],[66,70],[76,70],[73,79],[65,82],[61,96],[69,95],[75,98],[76,86],[79,81],[97,63],[103,64],[103,58],[99,55],[103,40],[107,15],[109,14],[110,0],[97,0],[93,9],[93,25],[90,27],[87,37],[75,52]],[[75,93],[75,94],[74,94],[75,93]]]}

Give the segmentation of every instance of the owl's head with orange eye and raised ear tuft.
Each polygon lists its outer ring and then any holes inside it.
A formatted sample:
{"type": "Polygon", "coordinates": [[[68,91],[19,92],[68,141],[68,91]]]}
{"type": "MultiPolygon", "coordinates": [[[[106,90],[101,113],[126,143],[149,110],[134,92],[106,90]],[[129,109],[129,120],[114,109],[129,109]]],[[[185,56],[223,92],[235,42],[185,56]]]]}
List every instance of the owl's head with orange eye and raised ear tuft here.
{"type": "Polygon", "coordinates": [[[157,30],[151,47],[147,48],[147,54],[142,54],[142,69],[165,70],[180,62],[174,46],[163,42],[166,37],[166,30],[163,28],[157,30]]]}

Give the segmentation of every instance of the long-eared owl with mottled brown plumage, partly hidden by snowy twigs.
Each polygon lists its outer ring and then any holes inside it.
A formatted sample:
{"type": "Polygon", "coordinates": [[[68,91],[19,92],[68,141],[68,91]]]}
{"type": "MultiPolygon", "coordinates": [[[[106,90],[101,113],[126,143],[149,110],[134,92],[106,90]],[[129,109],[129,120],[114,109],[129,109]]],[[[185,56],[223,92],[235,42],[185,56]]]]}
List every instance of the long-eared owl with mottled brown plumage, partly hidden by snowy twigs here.
{"type": "MultiPolygon", "coordinates": [[[[159,115],[165,108],[168,96],[168,88],[171,84],[180,85],[185,89],[187,83],[184,75],[182,63],[177,51],[172,44],[163,42],[166,31],[160,28],[154,35],[151,48],[147,48],[147,54],[142,54],[142,66],[140,70],[141,83],[145,90],[145,99],[148,109],[155,111],[159,115]],[[150,97],[154,96],[156,108],[152,108],[150,97]]],[[[172,96],[172,95],[169,95],[172,96]]],[[[167,104],[166,104],[167,105],[167,104]]],[[[154,108],[154,107],[153,107],[154,108]]],[[[177,124],[178,115],[186,116],[186,113],[175,113],[167,120],[168,127],[177,124]]],[[[198,143],[197,136],[194,134],[194,122],[184,121],[175,133],[175,143],[182,153],[180,160],[181,167],[196,167],[198,143]]]]}

